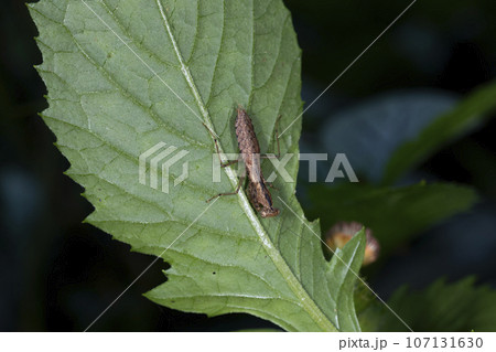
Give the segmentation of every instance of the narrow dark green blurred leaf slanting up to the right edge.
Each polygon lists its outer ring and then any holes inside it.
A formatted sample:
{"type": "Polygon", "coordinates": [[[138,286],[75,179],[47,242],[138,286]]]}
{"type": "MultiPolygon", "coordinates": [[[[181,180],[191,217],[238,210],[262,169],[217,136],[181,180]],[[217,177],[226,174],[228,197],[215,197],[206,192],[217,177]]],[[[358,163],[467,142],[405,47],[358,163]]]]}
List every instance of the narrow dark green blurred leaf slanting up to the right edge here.
{"type": "Polygon", "coordinates": [[[399,147],[388,161],[382,179],[390,184],[433,152],[472,130],[496,109],[496,83],[479,87],[451,111],[441,115],[419,136],[399,147]]]}

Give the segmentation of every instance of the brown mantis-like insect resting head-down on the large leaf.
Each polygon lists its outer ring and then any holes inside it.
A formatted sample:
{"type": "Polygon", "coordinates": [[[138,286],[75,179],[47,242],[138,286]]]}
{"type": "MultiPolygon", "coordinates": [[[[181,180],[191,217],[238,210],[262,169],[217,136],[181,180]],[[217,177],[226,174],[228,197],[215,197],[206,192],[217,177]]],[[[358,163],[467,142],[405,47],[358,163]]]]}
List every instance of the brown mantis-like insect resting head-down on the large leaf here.
{"type": "MultiPolygon", "coordinates": [[[[254,125],[251,124],[251,119],[246,113],[245,109],[238,107],[236,117],[236,137],[238,140],[239,151],[241,152],[242,161],[246,166],[246,172],[248,177],[248,199],[251,205],[260,213],[262,217],[272,217],[279,215],[279,209],[273,207],[272,196],[268,190],[268,183],[263,178],[260,166],[260,146],[258,143],[257,135],[255,135],[254,125]]],[[[214,137],[215,148],[218,151],[217,139],[214,137]]],[[[279,138],[278,138],[278,150],[279,150],[279,138]]],[[[280,152],[279,152],[280,153],[280,152]]],[[[237,162],[234,160],[233,162],[228,162],[222,164],[222,167],[227,167],[237,162]]],[[[231,195],[237,194],[241,184],[244,183],[245,178],[239,179],[238,186],[236,191],[229,193],[219,193],[213,198],[211,198],[207,202],[223,195],[231,195]]]]}

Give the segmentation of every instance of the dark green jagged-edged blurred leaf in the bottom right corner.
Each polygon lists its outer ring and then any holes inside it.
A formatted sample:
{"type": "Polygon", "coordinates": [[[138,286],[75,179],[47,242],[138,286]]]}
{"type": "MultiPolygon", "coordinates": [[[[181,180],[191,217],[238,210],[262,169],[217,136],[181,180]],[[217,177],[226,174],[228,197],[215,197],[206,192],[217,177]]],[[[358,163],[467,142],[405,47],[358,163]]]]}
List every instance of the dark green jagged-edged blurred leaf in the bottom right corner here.
{"type": "MultiPolygon", "coordinates": [[[[413,331],[495,331],[496,291],[474,284],[475,279],[467,277],[453,284],[440,279],[423,290],[402,287],[388,305],[413,331]]],[[[367,327],[374,322],[376,331],[407,331],[375,300],[360,313],[360,321],[367,327]]]]}

